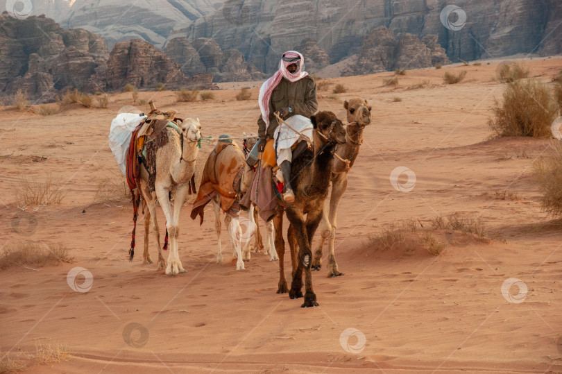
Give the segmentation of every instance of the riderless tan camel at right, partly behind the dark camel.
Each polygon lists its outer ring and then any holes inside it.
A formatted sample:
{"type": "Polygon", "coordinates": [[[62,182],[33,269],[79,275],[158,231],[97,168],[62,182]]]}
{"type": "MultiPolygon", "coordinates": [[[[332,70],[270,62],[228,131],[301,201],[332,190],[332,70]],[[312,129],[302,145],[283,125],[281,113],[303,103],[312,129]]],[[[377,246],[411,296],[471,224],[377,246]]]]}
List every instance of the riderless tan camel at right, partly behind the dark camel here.
{"type": "Polygon", "coordinates": [[[341,201],[341,196],[346,192],[348,187],[348,173],[350,167],[353,166],[357,155],[359,155],[359,147],[363,142],[363,130],[365,126],[371,124],[371,106],[367,105],[367,101],[358,97],[346,101],[343,104],[348,112],[348,126],[346,128],[345,144],[338,144],[336,153],[343,160],[349,160],[349,167],[346,162],[335,158],[332,163],[332,194],[330,195],[330,213],[322,216],[320,223],[320,243],[314,253],[312,260],[312,271],[320,271],[322,266],[322,248],[326,239],[330,254],[328,255],[328,277],[337,277],[343,275],[338,270],[338,264],[334,254],[334,238],[336,237],[337,228],[337,211],[341,201]]]}

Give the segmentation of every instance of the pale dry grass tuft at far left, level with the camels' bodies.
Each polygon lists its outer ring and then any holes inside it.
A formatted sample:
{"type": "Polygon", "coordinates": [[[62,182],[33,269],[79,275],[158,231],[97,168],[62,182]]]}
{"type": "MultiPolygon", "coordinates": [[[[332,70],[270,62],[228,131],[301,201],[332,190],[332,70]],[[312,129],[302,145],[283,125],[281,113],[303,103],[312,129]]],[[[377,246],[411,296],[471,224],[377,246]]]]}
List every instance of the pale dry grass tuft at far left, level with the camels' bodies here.
{"type": "Polygon", "coordinates": [[[51,174],[47,174],[44,181],[40,182],[32,177],[20,176],[17,189],[17,205],[58,205],[65,197],[60,181],[51,174]]]}

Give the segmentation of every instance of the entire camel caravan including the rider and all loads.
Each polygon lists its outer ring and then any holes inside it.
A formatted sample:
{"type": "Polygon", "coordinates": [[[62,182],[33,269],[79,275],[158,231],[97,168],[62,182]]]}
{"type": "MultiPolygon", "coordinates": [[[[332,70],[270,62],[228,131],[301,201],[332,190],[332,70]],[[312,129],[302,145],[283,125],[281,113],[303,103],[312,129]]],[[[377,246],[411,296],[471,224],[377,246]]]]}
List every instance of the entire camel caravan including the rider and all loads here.
{"type": "Polygon", "coordinates": [[[220,135],[205,160],[201,182],[195,173],[201,124],[199,119],[176,117],[176,112],[155,108],[118,114],[112,121],[110,148],[126,176],[133,201],[133,232],[129,260],[135,255],[135,234],[139,212],[144,214],[143,264],[152,264],[148,251],[152,229],[158,250],[157,270],[167,275],[185,273],[179,256],[180,217],[188,194],[196,194],[191,219],[205,219],[205,207],[212,203],[218,244],[216,262],[223,261],[221,211],[228,228],[236,269],[244,270],[250,260],[250,237],[254,252],[263,250],[269,260],[278,260],[278,294],[304,296],[302,307],[318,306],[312,287],[312,271],[321,270],[322,253],[328,241],[328,277],[343,275],[334,253],[337,209],[346,192],[348,173],[363,142],[363,131],[371,123],[371,106],[364,99],[345,101],[347,124],[330,111],[318,111],[316,83],[303,72],[300,53],[284,53],[279,71],[262,85],[259,95],[257,135],[220,135]],[[290,94],[287,103],[276,98],[281,90],[290,94]],[[292,90],[292,91],[291,91],[292,90]],[[299,93],[300,92],[300,93],[299,93]],[[287,105],[276,108],[275,105],[287,105]],[[273,130],[272,130],[272,125],[273,130]],[[237,139],[243,139],[239,146],[237,139]],[[331,193],[330,193],[331,186],[331,193]],[[329,207],[325,201],[330,194],[329,207]],[[156,202],[166,219],[164,244],[160,240],[156,202]],[[248,230],[243,235],[240,214],[247,212],[248,230]],[[291,288],[284,275],[285,243],[283,216],[287,216],[287,240],[292,262],[291,288]],[[266,224],[264,235],[258,217],[266,224]],[[312,241],[320,228],[319,243],[312,241]],[[245,237],[244,237],[245,236],[245,237]],[[163,251],[169,250],[167,260],[163,251]],[[305,294],[303,295],[303,273],[305,294]]]}

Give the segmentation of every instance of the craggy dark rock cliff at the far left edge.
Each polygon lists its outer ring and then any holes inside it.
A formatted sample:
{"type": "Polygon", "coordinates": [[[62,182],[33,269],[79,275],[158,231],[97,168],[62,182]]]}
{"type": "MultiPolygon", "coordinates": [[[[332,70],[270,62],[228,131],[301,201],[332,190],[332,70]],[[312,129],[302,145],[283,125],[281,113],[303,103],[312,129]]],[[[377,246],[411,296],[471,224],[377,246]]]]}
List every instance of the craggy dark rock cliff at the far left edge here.
{"type": "Polygon", "coordinates": [[[103,38],[65,30],[52,19],[0,15],[0,93],[19,88],[30,99],[52,99],[59,90],[82,89],[109,56],[103,38]]]}

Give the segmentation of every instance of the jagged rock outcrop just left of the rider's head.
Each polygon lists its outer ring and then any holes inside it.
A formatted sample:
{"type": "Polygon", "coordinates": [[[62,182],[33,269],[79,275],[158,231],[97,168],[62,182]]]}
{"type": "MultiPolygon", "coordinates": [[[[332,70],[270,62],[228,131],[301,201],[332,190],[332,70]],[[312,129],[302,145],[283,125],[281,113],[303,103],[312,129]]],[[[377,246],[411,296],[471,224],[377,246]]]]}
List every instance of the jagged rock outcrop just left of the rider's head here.
{"type": "Polygon", "coordinates": [[[262,80],[265,74],[248,64],[240,51],[223,51],[214,40],[201,37],[194,41],[176,37],[164,47],[164,53],[180,65],[184,74],[212,74],[215,82],[262,80]]]}

